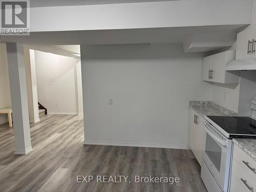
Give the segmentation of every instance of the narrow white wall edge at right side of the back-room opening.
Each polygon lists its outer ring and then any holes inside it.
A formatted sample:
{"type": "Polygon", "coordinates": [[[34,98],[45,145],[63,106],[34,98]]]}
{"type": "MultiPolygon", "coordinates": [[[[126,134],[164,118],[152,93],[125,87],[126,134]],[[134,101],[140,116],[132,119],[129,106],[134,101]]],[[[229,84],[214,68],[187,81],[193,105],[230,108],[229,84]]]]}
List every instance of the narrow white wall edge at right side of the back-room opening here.
{"type": "Polygon", "coordinates": [[[82,73],[81,73],[81,60],[77,59],[76,63],[76,91],[77,91],[77,114],[83,115],[83,103],[82,103],[82,73]]]}

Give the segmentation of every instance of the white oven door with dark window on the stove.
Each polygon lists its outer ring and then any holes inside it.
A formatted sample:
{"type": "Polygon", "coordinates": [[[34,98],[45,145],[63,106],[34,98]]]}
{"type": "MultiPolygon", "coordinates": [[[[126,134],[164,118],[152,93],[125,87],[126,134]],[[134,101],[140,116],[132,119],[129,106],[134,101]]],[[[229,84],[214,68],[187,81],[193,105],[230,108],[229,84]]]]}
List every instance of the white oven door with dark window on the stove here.
{"type": "Polygon", "coordinates": [[[203,144],[203,161],[214,177],[221,191],[228,191],[231,161],[229,139],[222,140],[205,126],[203,144]],[[228,146],[228,147],[227,147],[228,146]]]}

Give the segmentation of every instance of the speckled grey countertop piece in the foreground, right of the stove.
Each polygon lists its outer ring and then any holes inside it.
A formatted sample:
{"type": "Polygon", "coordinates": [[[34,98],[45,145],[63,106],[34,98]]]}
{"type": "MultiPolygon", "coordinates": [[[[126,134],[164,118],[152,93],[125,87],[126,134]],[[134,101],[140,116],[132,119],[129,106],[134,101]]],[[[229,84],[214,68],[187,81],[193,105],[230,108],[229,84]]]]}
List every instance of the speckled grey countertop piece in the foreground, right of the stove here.
{"type": "Polygon", "coordinates": [[[232,139],[232,141],[256,161],[256,139],[232,139]]]}

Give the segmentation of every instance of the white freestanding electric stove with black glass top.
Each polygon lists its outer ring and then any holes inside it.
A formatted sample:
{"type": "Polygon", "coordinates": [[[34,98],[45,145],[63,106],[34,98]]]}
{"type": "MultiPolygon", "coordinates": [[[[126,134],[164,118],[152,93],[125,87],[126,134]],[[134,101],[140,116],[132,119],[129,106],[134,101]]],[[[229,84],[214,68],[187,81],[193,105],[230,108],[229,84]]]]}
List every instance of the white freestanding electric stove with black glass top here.
{"type": "Polygon", "coordinates": [[[201,178],[208,192],[228,192],[232,139],[256,139],[256,96],[250,117],[205,116],[201,178]]]}

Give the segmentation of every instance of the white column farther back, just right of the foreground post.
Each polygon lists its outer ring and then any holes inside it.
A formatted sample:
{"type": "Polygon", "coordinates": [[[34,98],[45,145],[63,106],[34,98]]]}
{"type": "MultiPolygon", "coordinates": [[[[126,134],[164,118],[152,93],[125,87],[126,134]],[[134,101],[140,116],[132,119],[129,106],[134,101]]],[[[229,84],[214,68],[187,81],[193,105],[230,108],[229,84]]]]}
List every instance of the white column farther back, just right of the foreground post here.
{"type": "Polygon", "coordinates": [[[25,48],[25,68],[27,76],[27,94],[29,105],[29,122],[40,121],[38,113],[36,71],[35,71],[35,51],[25,48]]]}

